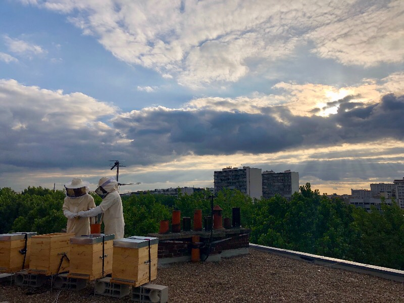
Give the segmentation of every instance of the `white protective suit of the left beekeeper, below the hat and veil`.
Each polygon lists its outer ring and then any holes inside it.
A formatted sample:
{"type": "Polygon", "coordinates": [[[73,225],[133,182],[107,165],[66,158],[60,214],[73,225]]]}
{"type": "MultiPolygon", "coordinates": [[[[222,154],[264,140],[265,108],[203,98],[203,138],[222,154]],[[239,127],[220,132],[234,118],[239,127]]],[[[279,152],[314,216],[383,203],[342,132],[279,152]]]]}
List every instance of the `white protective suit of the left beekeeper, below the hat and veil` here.
{"type": "Polygon", "coordinates": [[[76,236],[90,234],[90,220],[88,218],[75,218],[80,211],[87,211],[95,207],[94,198],[88,193],[78,198],[65,197],[63,213],[67,219],[67,232],[73,232],[76,236]]]}

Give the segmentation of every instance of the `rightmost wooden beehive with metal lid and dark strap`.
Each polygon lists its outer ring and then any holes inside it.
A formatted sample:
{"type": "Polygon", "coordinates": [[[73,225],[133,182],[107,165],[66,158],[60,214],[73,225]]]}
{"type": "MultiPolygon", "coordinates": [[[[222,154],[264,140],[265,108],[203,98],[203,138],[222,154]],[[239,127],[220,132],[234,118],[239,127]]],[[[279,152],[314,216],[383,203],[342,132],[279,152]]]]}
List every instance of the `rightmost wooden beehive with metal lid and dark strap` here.
{"type": "Polygon", "coordinates": [[[159,238],[138,237],[114,240],[111,282],[140,286],[157,278],[159,238]]]}

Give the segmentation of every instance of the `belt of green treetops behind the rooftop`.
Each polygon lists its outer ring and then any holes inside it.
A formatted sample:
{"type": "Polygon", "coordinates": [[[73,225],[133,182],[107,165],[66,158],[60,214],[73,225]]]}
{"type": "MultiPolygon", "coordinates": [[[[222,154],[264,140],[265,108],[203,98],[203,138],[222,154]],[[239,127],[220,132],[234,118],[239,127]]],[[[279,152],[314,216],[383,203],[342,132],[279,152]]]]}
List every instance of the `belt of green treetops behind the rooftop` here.
{"type": "MultiPolygon", "coordinates": [[[[161,220],[171,222],[173,210],[191,219],[194,210],[210,216],[210,195],[202,191],[178,197],[123,196],[125,236],[158,232],[161,220]]],[[[101,198],[93,197],[99,205],[101,198]]],[[[62,212],[64,198],[63,191],[42,187],[28,187],[21,193],[0,188],[0,233],[61,232],[67,223],[62,212]]],[[[307,183],[290,200],[279,195],[251,199],[238,190],[225,189],[214,197],[214,205],[223,209],[223,218],[231,218],[233,207],[240,208],[241,225],[251,229],[251,243],[404,269],[404,211],[394,203],[382,203],[381,211],[373,208],[368,213],[331,200],[307,183]]]]}

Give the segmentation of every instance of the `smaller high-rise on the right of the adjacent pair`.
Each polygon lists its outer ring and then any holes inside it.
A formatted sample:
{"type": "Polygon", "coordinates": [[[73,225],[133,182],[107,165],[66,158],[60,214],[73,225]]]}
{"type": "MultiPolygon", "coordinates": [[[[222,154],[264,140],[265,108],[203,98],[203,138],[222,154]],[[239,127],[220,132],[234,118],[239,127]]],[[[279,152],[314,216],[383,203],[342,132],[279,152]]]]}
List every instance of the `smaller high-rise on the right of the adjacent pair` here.
{"type": "Polygon", "coordinates": [[[299,173],[286,170],[283,173],[265,171],[262,173],[262,193],[264,198],[280,194],[290,198],[294,192],[299,191],[299,173]]]}

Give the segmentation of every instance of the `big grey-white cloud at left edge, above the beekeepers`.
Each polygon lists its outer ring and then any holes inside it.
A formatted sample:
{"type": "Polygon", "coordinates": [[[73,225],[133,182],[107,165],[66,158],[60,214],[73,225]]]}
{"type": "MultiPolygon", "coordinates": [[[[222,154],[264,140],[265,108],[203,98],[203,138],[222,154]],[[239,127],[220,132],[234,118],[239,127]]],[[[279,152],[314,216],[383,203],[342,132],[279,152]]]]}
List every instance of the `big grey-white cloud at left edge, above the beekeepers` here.
{"type": "Polygon", "coordinates": [[[116,108],[82,93],[0,80],[0,104],[3,163],[30,168],[91,165],[122,141],[122,135],[102,122],[116,108]]]}

